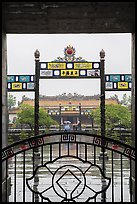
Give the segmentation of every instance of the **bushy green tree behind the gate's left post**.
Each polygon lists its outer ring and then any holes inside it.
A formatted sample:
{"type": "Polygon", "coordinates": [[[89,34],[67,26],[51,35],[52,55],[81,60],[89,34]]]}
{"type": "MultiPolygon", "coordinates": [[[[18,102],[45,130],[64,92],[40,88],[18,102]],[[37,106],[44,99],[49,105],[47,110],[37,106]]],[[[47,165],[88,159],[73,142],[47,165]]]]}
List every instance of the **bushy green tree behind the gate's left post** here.
{"type": "MultiPolygon", "coordinates": [[[[17,124],[29,125],[30,129],[34,130],[34,107],[28,104],[19,106],[21,112],[17,113],[17,124]]],[[[46,126],[47,129],[53,124],[57,124],[45,111],[44,108],[39,109],[39,126],[46,126]]]]}

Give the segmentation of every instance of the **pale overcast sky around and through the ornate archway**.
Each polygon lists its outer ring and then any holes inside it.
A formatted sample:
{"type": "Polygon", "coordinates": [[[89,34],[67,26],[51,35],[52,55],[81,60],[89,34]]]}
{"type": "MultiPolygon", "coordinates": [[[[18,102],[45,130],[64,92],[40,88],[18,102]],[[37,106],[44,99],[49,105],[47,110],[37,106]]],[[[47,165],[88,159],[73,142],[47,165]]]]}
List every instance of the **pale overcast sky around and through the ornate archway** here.
{"type": "MultiPolygon", "coordinates": [[[[50,62],[64,57],[64,48],[75,48],[75,57],[94,62],[100,61],[99,53],[105,51],[105,74],[131,74],[131,34],[8,34],[7,74],[35,74],[36,49],[40,51],[40,61],[50,62]]],[[[82,95],[100,94],[100,79],[40,79],[40,94],[58,95],[78,93],[82,95]]],[[[22,96],[34,98],[34,92],[9,92],[17,101],[22,96]]],[[[106,98],[117,94],[131,95],[130,91],[106,91],[106,98]]]]}

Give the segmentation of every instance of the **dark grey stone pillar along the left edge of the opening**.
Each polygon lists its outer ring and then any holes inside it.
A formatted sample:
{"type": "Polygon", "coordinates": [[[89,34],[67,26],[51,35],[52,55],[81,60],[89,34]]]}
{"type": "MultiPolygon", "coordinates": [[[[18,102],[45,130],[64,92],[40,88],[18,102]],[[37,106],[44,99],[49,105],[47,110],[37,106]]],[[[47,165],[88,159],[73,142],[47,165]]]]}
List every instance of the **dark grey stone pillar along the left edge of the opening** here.
{"type": "MultiPolygon", "coordinates": [[[[2,148],[8,145],[8,108],[7,108],[7,38],[2,28],[2,148]]],[[[11,179],[6,178],[6,162],[2,163],[2,202],[8,201],[11,179]],[[6,180],[7,179],[7,180],[6,180]],[[6,184],[7,181],[7,184],[6,184]],[[7,194],[6,194],[7,185],[7,194]],[[7,196],[6,196],[7,195],[7,196]],[[7,198],[6,198],[7,197],[7,198]]]]}

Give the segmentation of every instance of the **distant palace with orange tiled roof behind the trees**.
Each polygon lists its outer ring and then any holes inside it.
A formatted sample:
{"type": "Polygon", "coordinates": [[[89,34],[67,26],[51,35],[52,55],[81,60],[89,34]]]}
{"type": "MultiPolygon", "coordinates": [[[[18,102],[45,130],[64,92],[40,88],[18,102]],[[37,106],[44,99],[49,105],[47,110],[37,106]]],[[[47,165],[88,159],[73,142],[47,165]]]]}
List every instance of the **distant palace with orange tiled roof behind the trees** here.
{"type": "MultiPolygon", "coordinates": [[[[22,97],[20,104],[29,104],[34,106],[34,99],[22,97]]],[[[109,98],[105,100],[106,104],[118,104],[119,101],[116,98],[109,98]]],[[[74,94],[60,94],[57,96],[42,96],[39,97],[39,107],[42,107],[48,111],[48,114],[61,125],[64,121],[70,121],[72,125],[78,123],[81,120],[82,126],[93,127],[93,118],[90,113],[93,109],[100,106],[100,95],[84,96],[77,93],[74,94]]],[[[19,107],[9,110],[9,121],[12,124],[17,118],[19,107]]]]}

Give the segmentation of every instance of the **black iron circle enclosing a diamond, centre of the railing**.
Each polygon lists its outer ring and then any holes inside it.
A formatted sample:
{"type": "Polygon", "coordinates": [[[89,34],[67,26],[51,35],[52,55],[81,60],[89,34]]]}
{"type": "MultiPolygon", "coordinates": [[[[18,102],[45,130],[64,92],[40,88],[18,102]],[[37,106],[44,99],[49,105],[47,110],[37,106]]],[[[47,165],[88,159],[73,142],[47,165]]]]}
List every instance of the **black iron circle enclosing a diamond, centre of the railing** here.
{"type": "Polygon", "coordinates": [[[53,189],[64,200],[77,198],[85,189],[86,178],[81,169],[74,165],[58,168],[52,179],[53,189]]]}

